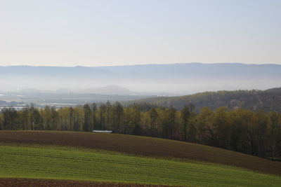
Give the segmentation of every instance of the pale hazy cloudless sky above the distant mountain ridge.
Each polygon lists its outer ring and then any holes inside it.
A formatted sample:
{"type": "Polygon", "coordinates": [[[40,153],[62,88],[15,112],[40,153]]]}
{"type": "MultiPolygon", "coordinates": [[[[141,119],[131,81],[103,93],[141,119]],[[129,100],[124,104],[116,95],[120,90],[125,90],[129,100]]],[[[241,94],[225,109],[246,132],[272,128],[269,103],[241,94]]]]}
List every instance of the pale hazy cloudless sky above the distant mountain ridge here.
{"type": "Polygon", "coordinates": [[[281,64],[280,0],[0,0],[0,65],[281,64]]]}

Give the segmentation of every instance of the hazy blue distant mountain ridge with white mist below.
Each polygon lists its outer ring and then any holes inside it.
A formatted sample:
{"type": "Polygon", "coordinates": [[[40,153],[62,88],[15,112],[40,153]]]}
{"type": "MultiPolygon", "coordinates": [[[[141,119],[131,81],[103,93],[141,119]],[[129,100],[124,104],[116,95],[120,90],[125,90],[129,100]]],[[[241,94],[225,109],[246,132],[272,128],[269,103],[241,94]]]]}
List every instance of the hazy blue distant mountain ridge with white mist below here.
{"type": "Polygon", "coordinates": [[[0,67],[1,90],[89,89],[120,85],[133,92],[195,93],[280,87],[281,65],[145,64],[112,67],[0,67]]]}

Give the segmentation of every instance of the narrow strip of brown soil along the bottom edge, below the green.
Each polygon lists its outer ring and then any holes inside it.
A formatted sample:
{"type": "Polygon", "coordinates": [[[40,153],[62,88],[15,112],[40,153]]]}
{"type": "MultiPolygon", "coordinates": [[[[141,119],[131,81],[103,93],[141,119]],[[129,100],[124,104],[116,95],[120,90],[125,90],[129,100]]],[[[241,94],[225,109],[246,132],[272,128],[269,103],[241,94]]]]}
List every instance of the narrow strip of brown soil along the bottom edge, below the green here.
{"type": "Polygon", "coordinates": [[[161,185],[148,185],[136,183],[110,183],[110,182],[96,182],[96,181],[75,181],[62,179],[20,179],[20,178],[0,178],[0,187],[90,187],[90,186],[108,186],[108,187],[161,187],[161,185]]]}

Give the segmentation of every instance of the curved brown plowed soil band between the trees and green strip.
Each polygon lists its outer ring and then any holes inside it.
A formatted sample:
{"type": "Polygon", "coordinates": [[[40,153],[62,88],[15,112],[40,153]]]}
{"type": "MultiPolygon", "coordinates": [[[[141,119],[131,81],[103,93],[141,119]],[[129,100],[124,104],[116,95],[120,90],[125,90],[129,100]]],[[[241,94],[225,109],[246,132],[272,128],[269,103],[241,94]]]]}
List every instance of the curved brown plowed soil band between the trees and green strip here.
{"type": "Polygon", "coordinates": [[[133,155],[183,158],[281,175],[280,162],[211,146],[151,137],[92,132],[0,131],[0,142],[77,146],[133,155]]]}

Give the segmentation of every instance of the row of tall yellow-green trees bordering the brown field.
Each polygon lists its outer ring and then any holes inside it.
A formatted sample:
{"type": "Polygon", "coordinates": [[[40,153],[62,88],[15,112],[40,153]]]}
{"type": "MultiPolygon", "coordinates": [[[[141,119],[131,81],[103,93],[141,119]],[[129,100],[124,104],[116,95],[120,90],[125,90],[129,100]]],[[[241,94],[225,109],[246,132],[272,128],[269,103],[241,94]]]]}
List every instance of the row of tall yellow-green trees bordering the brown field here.
{"type": "Polygon", "coordinates": [[[112,130],[164,139],[189,141],[239,151],[263,158],[281,157],[281,113],[277,111],[230,110],[185,105],[176,110],[151,104],[84,104],[38,109],[25,106],[1,109],[0,130],[112,130]]]}

